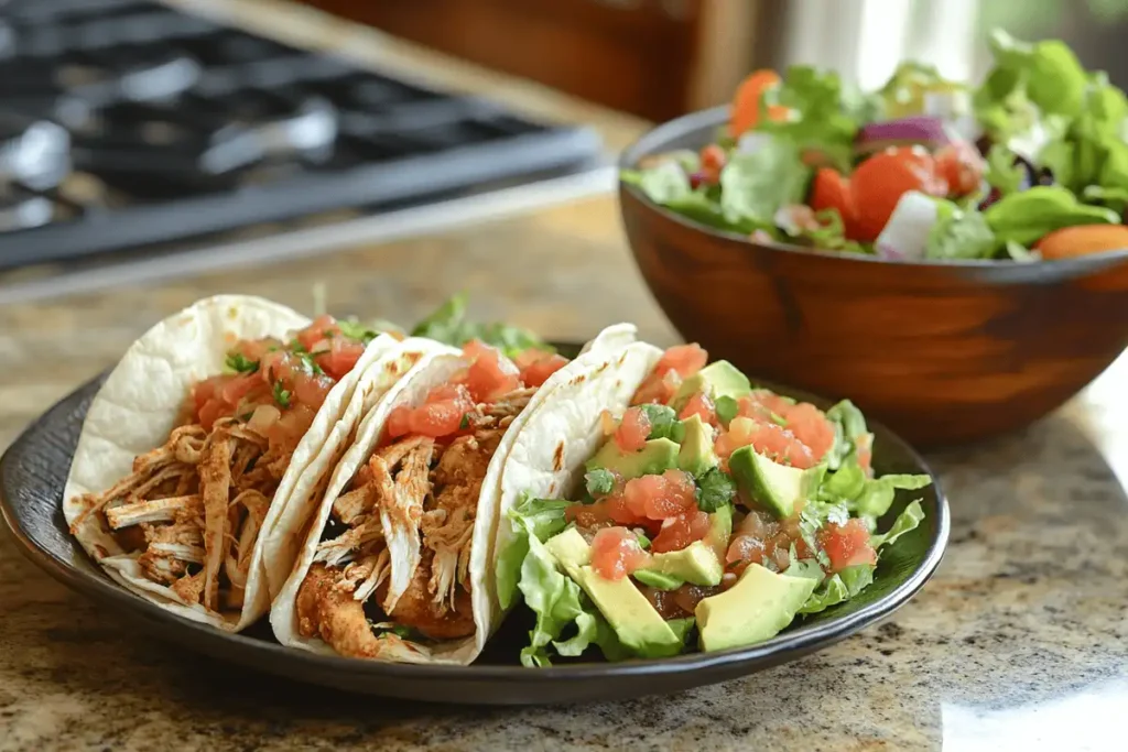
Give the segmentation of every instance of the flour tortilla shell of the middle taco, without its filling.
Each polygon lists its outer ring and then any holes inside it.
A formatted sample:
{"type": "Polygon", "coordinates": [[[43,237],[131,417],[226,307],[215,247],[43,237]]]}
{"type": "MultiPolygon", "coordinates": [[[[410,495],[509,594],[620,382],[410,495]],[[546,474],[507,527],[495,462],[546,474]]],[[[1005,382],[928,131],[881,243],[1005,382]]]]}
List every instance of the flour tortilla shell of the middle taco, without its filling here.
{"type": "MultiPolygon", "coordinates": [[[[510,450],[525,434],[525,427],[530,421],[540,413],[556,408],[556,395],[562,387],[570,384],[575,374],[585,373],[598,369],[601,364],[606,366],[611,363],[620,351],[635,340],[636,331],[634,325],[618,324],[607,327],[590,340],[575,360],[556,371],[541,384],[526,408],[510,424],[496,452],[494,452],[482,481],[470,543],[470,602],[476,627],[475,634],[472,637],[448,640],[437,646],[418,645],[389,635],[386,637],[388,640],[387,651],[377,660],[466,665],[478,656],[486,640],[500,623],[501,610],[497,607],[493,578],[494,539],[497,533],[499,520],[497,495],[502,488],[502,479],[508,472],[510,450]]],[[[309,528],[301,556],[271,607],[271,627],[274,630],[274,636],[283,645],[323,655],[336,654],[320,638],[307,638],[299,634],[297,613],[298,591],[314,563],[314,555],[333,510],[333,501],[371,457],[390,413],[400,405],[421,404],[432,388],[447,382],[464,368],[466,368],[466,361],[458,355],[440,354],[420,361],[362,419],[356,431],[355,442],[333,471],[328,489],[321,498],[317,515],[309,528]]],[[[395,556],[391,566],[395,570],[397,566],[395,556]]]]}

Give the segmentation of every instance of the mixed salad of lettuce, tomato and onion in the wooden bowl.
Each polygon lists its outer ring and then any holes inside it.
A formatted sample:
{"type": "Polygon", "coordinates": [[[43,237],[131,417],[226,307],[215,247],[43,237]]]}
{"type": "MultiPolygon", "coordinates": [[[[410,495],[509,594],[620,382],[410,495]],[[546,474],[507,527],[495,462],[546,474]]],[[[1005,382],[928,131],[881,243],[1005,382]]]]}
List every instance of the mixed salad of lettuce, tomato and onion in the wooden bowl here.
{"type": "Polygon", "coordinates": [[[754,239],[900,260],[1128,248],[1128,98],[1057,39],[990,37],[979,86],[905,62],[876,91],[759,70],[699,151],[622,172],[651,201],[754,239]]]}

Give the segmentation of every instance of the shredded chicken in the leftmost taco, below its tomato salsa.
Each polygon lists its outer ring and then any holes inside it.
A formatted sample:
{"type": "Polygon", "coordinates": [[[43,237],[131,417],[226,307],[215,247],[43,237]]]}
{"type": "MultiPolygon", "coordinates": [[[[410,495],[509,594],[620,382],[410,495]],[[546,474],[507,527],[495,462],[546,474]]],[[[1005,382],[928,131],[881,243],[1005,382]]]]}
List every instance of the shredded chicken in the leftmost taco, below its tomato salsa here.
{"type": "Polygon", "coordinates": [[[285,468],[271,454],[263,435],[232,418],[217,421],[210,433],[175,428],[164,446],[134,459],[129,477],[83,496],[71,530],[96,514],[144,577],[185,604],[237,611],[285,468]]]}

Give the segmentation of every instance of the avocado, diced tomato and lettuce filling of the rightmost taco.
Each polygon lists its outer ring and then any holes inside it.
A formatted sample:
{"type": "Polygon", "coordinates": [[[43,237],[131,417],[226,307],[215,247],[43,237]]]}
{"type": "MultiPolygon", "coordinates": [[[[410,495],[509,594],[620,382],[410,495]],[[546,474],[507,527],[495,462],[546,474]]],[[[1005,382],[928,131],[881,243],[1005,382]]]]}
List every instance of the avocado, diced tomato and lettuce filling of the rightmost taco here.
{"type": "Polygon", "coordinates": [[[592,644],[622,660],[694,649],[691,635],[702,651],[769,639],[862,592],[924,519],[902,499],[884,524],[898,489],[932,479],[875,474],[852,402],[822,410],[707,361],[666,351],[622,415],[601,414],[580,494],[509,513],[521,543],[497,574],[536,613],[526,665],[592,644]]]}

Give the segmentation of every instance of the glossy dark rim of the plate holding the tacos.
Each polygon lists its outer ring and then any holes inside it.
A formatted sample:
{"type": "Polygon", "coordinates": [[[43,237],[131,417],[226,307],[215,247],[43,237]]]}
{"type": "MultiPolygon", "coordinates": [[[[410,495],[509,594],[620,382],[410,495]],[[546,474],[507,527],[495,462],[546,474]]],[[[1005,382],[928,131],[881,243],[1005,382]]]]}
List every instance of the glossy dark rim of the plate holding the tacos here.
{"type": "MultiPolygon", "coordinates": [[[[557,343],[554,343],[557,344],[557,343]]],[[[571,346],[572,343],[558,343],[571,346]]],[[[10,476],[29,448],[42,441],[39,434],[54,431],[54,426],[65,421],[65,414],[82,405],[83,400],[92,398],[97,388],[108,375],[104,371],[69,392],[35,418],[20,435],[0,455],[0,520],[12,534],[18,550],[33,564],[55,581],[70,590],[92,598],[112,607],[120,607],[123,613],[138,619],[139,626],[148,625],[158,629],[160,636],[174,643],[195,646],[212,655],[221,655],[226,661],[250,664],[252,658],[272,658],[281,662],[279,666],[265,669],[271,673],[296,675],[292,671],[281,667],[281,664],[300,666],[303,673],[314,674],[319,671],[342,672],[352,676],[385,680],[444,680],[450,682],[491,681],[514,679],[531,683],[555,683],[588,681],[615,676],[646,676],[653,674],[685,674],[708,672],[722,666],[756,666],[767,665],[775,657],[784,660],[799,657],[816,649],[821,649],[852,636],[909,603],[914,596],[933,577],[943,560],[951,537],[951,510],[948,495],[936,471],[911,444],[880,422],[870,421],[870,430],[882,437],[885,443],[898,446],[913,463],[932,478],[935,505],[932,511],[935,516],[935,533],[929,538],[919,564],[913,573],[897,584],[889,593],[863,605],[853,613],[843,614],[827,622],[800,626],[794,631],[779,634],[772,639],[757,645],[719,651],[715,653],[691,652],[667,658],[631,660],[624,662],[582,662],[574,664],[553,665],[541,669],[528,669],[512,665],[470,664],[399,664],[384,662],[356,661],[337,655],[320,655],[284,647],[276,643],[259,639],[239,632],[227,632],[213,627],[177,617],[152,602],[141,599],[132,592],[111,581],[100,568],[92,563],[86,551],[79,549],[78,556],[85,557],[89,566],[76,565],[64,560],[56,550],[41,545],[35,536],[25,527],[25,515],[17,506],[19,504],[8,496],[10,476]]],[[[781,387],[774,382],[764,381],[773,388],[781,387]]],[[[788,388],[791,389],[791,388],[788,388]]],[[[810,395],[801,389],[791,389],[796,396],[827,401],[826,398],[810,395]]],[[[86,407],[81,408],[85,416],[86,407]]],[[[254,662],[259,667],[262,664],[254,662]]],[[[342,687],[344,684],[342,683],[342,687]]]]}

